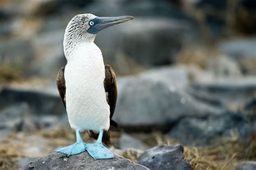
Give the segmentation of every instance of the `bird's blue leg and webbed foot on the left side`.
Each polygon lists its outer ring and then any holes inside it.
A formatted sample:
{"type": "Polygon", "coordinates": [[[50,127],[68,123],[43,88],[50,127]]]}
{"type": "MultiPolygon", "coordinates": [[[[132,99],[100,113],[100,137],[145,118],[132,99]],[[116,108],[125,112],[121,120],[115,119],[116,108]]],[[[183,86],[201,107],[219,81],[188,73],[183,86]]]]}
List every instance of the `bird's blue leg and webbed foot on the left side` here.
{"type": "Polygon", "coordinates": [[[72,154],[78,154],[85,151],[85,143],[83,142],[83,139],[80,136],[79,130],[76,130],[76,137],[77,141],[75,144],[60,148],[56,150],[57,152],[65,153],[68,156],[72,154]]]}

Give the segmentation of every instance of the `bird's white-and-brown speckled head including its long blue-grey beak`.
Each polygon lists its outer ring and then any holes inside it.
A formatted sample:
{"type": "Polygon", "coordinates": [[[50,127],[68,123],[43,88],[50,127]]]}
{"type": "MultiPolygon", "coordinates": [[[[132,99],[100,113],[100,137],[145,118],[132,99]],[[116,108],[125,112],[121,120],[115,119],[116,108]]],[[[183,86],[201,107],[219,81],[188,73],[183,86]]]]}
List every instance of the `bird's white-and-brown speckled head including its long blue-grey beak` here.
{"type": "Polygon", "coordinates": [[[63,42],[65,55],[67,56],[79,42],[93,42],[100,30],[131,19],[133,19],[131,16],[97,17],[90,13],[76,15],[70,20],[65,30],[63,42]]]}

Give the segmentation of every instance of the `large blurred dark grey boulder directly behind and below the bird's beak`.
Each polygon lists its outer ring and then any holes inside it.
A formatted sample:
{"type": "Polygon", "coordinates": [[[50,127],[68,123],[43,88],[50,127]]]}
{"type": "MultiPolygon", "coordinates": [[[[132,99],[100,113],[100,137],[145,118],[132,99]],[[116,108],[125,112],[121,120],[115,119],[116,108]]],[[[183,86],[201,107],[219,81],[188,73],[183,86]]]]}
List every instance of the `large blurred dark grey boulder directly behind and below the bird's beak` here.
{"type": "Polygon", "coordinates": [[[95,43],[102,49],[106,61],[123,52],[140,65],[166,65],[176,61],[187,27],[184,22],[170,19],[136,18],[131,24],[125,23],[99,33],[95,43]],[[111,41],[106,44],[105,40],[109,39],[111,41]],[[156,44],[159,39],[165,44],[156,44]]]}

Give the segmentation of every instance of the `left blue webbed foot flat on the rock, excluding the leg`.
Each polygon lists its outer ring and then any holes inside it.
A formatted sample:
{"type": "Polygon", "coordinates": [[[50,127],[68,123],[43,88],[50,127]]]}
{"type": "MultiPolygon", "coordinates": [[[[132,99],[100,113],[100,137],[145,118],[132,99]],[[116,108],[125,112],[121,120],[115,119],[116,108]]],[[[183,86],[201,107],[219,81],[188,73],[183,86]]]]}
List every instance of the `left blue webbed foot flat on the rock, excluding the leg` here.
{"type": "Polygon", "coordinates": [[[82,153],[82,152],[85,151],[85,144],[76,142],[75,144],[60,148],[56,151],[61,152],[61,153],[65,153],[67,155],[78,154],[78,153],[82,153]]]}

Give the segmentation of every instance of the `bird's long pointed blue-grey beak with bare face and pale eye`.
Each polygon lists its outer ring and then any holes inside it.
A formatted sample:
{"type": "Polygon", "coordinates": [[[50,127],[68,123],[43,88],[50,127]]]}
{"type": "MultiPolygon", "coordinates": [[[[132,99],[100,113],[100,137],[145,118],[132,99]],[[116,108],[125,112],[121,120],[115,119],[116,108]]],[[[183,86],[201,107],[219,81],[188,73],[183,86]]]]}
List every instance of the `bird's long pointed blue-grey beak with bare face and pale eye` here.
{"type": "Polygon", "coordinates": [[[90,28],[87,32],[91,34],[97,34],[100,30],[105,29],[106,27],[127,22],[134,19],[131,16],[122,16],[122,17],[96,17],[89,21],[90,28]]]}

